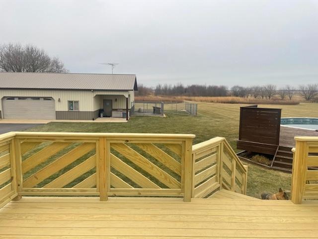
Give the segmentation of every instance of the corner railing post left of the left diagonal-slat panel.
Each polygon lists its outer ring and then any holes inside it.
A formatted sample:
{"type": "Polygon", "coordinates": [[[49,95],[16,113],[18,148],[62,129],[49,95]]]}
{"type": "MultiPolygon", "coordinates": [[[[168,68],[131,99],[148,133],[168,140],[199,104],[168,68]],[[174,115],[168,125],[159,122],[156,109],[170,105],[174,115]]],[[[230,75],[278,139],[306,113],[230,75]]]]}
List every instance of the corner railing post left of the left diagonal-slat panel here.
{"type": "MultiPolygon", "coordinates": [[[[11,155],[11,175],[12,175],[12,186],[14,191],[19,193],[22,191],[22,155],[21,155],[21,144],[19,139],[12,139],[10,146],[11,155]],[[11,151],[12,150],[12,151],[11,151]]],[[[22,196],[18,195],[12,200],[18,201],[22,196]]]]}

